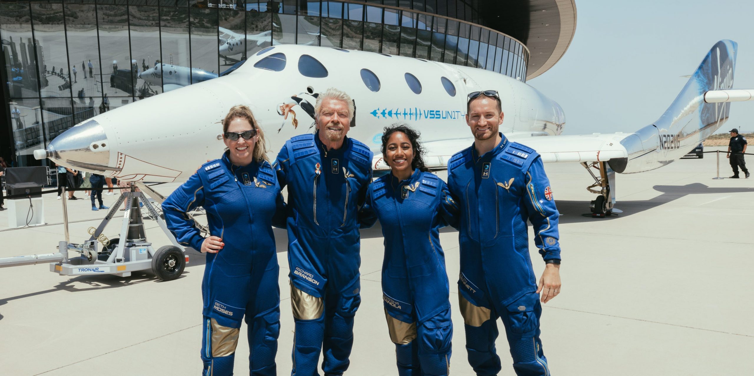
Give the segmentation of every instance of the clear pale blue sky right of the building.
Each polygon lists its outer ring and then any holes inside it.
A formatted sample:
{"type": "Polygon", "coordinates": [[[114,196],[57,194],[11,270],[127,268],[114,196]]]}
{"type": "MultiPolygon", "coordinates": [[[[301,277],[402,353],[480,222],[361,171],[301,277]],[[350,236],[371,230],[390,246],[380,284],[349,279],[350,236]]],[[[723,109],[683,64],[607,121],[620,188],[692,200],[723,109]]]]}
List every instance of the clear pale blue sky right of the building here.
{"type": "MultiPolygon", "coordinates": [[[[635,132],[657,120],[707,51],[738,43],[734,89],[754,89],[754,2],[576,0],[576,34],[559,62],[529,80],[566,113],[563,134],[635,132]]],[[[754,132],[754,102],[728,123],[754,132]]]]}

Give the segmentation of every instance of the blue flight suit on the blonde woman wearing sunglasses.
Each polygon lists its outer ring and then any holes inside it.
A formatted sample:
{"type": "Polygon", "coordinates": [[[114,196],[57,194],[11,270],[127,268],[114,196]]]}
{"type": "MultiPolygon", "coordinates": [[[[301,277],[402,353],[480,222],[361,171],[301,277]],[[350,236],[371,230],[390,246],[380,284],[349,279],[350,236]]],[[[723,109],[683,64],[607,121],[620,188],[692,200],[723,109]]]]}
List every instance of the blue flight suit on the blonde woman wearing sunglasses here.
{"type": "Polygon", "coordinates": [[[285,226],[277,177],[266,161],[232,165],[228,152],[202,165],[162,204],[170,232],[195,250],[201,250],[204,238],[186,213],[198,206],[207,211],[210,235],[225,243],[218,253],[206,253],[201,284],[203,374],[233,374],[245,314],[250,374],[275,375],[280,287],[272,226],[285,226]]]}

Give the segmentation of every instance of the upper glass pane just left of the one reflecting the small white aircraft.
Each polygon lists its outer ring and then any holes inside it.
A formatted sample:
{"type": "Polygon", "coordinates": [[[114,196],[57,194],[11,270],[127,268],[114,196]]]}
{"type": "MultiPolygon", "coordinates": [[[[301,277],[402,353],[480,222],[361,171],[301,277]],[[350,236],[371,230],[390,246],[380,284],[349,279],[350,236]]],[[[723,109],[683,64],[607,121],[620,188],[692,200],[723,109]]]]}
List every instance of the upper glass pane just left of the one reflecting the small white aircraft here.
{"type": "Polygon", "coordinates": [[[217,77],[218,47],[217,12],[191,8],[192,83],[217,77]]]}

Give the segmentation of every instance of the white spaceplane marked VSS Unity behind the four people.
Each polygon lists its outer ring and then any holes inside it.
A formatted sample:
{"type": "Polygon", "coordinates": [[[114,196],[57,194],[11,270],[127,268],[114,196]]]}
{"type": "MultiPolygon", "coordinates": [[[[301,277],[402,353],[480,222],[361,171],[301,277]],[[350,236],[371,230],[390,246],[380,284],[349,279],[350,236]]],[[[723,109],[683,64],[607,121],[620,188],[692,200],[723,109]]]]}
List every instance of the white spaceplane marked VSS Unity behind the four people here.
{"type": "Polygon", "coordinates": [[[592,192],[598,195],[593,211],[605,214],[615,203],[615,172],[648,171],[681,158],[725,123],[728,102],[752,98],[752,91],[731,90],[736,47],[733,41],[716,43],[654,123],[636,132],[560,135],[566,123],[560,106],[503,74],[381,53],[277,45],[249,56],[224,77],[79,123],[47,150],[36,150],[35,157],[121,180],[185,180],[198,165],[222,154],[220,122],[233,105],[253,110],[274,159],[287,139],[313,132],[312,94],[336,87],[355,101],[348,136],[375,151],[376,173],[388,169],[379,153],[380,136],[383,127],[393,123],[408,123],[421,132],[428,151],[425,161],[439,170],[473,142],[464,122],[467,93],[494,89],[504,112],[501,132],[537,150],[544,162],[584,165],[594,180],[590,188],[596,187],[592,192]],[[296,105],[284,120],[281,108],[291,99],[296,105]]]}

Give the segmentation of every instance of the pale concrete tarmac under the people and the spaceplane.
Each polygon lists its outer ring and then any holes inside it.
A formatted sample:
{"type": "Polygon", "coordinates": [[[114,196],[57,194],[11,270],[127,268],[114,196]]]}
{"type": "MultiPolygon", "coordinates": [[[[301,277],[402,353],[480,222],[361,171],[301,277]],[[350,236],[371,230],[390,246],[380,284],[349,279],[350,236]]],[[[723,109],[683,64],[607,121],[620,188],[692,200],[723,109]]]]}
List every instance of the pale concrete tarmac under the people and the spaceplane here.
{"type": "MultiPolygon", "coordinates": [[[[720,162],[721,175],[730,176],[724,154],[720,162]]],[[[562,214],[562,293],[544,305],[541,320],[553,374],[749,374],[754,368],[754,178],[713,180],[713,153],[641,174],[619,174],[616,208],[624,212],[593,219],[581,215],[594,199],[584,190],[592,183],[587,171],[577,164],[545,167],[562,214]]],[[[444,172],[440,176],[446,178],[444,172]]],[[[170,193],[175,186],[158,188],[170,193]]],[[[56,251],[63,226],[54,223],[62,222],[62,205],[54,194],[44,197],[49,226],[8,229],[8,211],[0,212],[0,257],[56,251]]],[[[103,197],[106,205],[117,199],[103,197]]],[[[87,229],[106,214],[90,211],[88,199],[69,201],[68,207],[72,242],[88,238],[87,229]]],[[[145,223],[155,248],[168,244],[155,221],[145,223]]],[[[112,237],[119,227],[113,221],[105,234],[112,237]]],[[[290,374],[293,317],[287,238],[278,229],[275,236],[283,299],[277,373],[282,375],[290,374]]],[[[346,374],[394,375],[380,287],[382,232],[376,226],[362,237],[362,302],[346,374]]],[[[455,326],[451,372],[473,375],[457,308],[458,234],[443,229],[440,241],[455,326]]],[[[540,275],[544,262],[533,241],[530,249],[540,275]]],[[[170,282],[151,272],[66,277],[50,272],[47,264],[0,269],[0,374],[200,374],[204,256],[190,256],[182,277],[170,282]]],[[[499,322],[498,327],[504,330],[499,322]]],[[[514,374],[503,333],[497,348],[500,375],[514,374]]],[[[235,374],[247,374],[248,355],[241,335],[235,374]]]]}

